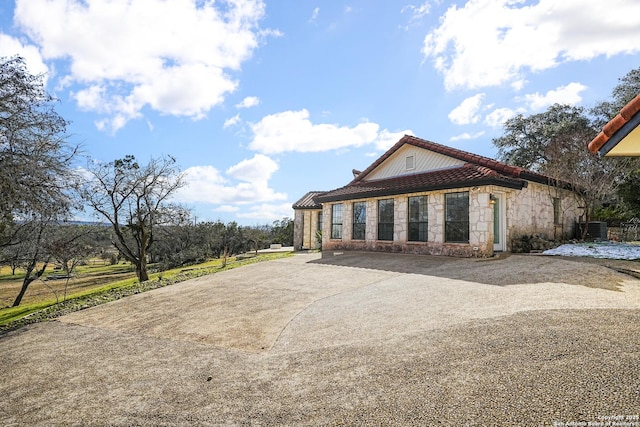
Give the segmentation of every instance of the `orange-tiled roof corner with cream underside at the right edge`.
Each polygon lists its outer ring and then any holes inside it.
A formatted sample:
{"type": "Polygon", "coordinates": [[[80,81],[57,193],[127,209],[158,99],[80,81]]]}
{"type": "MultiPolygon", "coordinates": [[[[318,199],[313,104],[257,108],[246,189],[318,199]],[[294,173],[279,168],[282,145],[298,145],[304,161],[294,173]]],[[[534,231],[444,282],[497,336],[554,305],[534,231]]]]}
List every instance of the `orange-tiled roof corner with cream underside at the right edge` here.
{"type": "Polygon", "coordinates": [[[589,143],[600,156],[640,156],[640,94],[625,105],[589,143]]]}

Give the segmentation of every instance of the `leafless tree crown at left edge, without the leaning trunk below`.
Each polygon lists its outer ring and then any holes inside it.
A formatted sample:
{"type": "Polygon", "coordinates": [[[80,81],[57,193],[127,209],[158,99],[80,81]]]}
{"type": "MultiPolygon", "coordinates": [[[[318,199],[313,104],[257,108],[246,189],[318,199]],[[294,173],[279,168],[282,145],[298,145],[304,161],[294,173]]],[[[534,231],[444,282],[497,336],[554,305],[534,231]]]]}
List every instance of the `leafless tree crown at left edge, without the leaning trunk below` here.
{"type": "Polygon", "coordinates": [[[16,217],[65,214],[77,147],[66,142],[67,122],[53,108],[42,75],[20,57],[0,58],[0,246],[15,244],[16,217]]]}

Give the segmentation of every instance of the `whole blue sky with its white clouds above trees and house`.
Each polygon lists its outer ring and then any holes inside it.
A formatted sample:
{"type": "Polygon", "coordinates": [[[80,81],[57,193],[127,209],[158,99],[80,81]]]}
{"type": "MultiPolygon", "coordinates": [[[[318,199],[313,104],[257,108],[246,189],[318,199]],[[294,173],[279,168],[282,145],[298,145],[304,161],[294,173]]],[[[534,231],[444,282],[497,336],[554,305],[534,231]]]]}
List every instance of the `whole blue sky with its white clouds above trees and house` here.
{"type": "Polygon", "coordinates": [[[199,221],[253,225],[403,134],[495,157],[514,114],[609,99],[640,66],[638,16],[637,0],[5,0],[0,56],[47,73],[91,158],[173,155],[199,221]]]}

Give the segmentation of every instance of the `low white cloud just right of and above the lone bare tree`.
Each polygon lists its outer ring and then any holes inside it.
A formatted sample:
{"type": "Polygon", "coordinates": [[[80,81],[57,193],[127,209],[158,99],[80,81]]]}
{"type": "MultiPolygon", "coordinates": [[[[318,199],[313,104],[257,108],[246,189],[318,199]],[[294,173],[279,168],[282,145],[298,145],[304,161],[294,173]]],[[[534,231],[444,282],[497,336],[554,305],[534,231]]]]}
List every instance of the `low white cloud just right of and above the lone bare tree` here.
{"type": "Polygon", "coordinates": [[[177,192],[176,200],[228,206],[286,200],[285,193],[269,187],[277,169],[276,162],[261,154],[231,166],[225,175],[213,166],[192,166],[184,171],[187,186],[177,192]]]}

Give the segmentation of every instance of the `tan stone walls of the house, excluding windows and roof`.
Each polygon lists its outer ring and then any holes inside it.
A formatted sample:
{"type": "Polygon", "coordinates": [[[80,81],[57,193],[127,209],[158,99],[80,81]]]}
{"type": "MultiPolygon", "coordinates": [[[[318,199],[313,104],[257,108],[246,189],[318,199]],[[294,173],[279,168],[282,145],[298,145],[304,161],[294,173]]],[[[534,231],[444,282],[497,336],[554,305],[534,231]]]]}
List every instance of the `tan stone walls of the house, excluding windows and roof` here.
{"type": "Polygon", "coordinates": [[[403,194],[392,197],[348,200],[337,202],[343,205],[342,239],[331,239],[331,212],[333,203],[323,206],[324,230],[323,250],[367,250],[382,252],[403,252],[414,254],[448,255],[459,257],[488,257],[493,255],[494,227],[491,194],[501,194],[505,203],[505,222],[503,236],[506,250],[511,249],[510,241],[523,234],[539,234],[547,238],[569,234],[578,215],[577,203],[571,193],[545,185],[529,182],[522,190],[506,189],[495,186],[462,188],[446,191],[433,191],[403,194]],[[445,194],[468,192],[469,194],[469,242],[445,242],[445,194]],[[408,198],[410,196],[428,196],[427,242],[409,242],[408,239],[408,198]],[[561,198],[562,223],[554,225],[553,197],[561,198]],[[377,240],[378,201],[394,200],[393,241],[377,240]],[[367,203],[366,233],[364,240],[352,238],[353,203],[367,203]]]}

